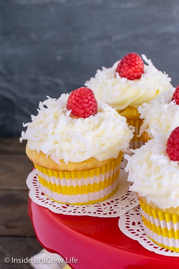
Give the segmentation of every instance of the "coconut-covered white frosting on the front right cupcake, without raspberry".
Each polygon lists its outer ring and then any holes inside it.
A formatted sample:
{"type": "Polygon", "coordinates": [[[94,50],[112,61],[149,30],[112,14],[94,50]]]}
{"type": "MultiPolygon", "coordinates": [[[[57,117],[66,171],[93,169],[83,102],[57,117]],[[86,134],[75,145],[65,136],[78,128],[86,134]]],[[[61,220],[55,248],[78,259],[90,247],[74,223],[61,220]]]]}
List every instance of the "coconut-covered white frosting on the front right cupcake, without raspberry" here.
{"type": "Polygon", "coordinates": [[[159,208],[179,206],[179,164],[171,161],[166,153],[169,134],[156,134],[140,149],[135,149],[125,168],[128,181],[133,182],[129,190],[138,192],[159,208]]]}

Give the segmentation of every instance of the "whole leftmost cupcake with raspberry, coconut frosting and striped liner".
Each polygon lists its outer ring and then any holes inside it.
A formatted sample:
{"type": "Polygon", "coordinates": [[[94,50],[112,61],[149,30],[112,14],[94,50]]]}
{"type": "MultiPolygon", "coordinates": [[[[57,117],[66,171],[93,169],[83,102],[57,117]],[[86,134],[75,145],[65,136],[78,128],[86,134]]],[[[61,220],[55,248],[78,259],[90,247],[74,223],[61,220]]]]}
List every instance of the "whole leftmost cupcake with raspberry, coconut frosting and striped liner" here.
{"type": "Polygon", "coordinates": [[[112,196],[120,162],[133,130],[126,118],[81,87],[40,102],[24,124],[26,153],[37,169],[41,191],[65,204],[93,204],[112,196]]]}

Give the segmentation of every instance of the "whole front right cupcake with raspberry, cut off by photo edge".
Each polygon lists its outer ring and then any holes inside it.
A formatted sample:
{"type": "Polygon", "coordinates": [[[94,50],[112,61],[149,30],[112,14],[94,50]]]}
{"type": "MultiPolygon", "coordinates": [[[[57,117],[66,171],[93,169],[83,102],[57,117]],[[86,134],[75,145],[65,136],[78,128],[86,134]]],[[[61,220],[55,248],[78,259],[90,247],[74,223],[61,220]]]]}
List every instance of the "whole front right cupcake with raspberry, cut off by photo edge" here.
{"type": "Polygon", "coordinates": [[[161,247],[179,252],[179,127],[157,133],[134,150],[125,168],[129,190],[138,194],[146,235],[161,247]],[[142,158],[142,161],[141,161],[142,158]]]}

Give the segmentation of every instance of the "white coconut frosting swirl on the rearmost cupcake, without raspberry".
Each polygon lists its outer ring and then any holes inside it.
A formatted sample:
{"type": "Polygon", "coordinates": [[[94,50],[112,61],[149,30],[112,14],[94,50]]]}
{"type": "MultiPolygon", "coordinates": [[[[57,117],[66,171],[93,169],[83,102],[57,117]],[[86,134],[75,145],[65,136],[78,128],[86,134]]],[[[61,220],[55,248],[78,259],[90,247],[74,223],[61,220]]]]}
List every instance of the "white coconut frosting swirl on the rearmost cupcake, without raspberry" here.
{"type": "Polygon", "coordinates": [[[138,108],[142,103],[155,99],[161,92],[173,88],[171,78],[162,71],[159,71],[142,55],[144,73],[138,80],[128,80],[121,78],[115,72],[120,61],[116,62],[111,68],[102,67],[97,70],[95,77],[85,82],[85,86],[92,89],[95,97],[99,101],[108,103],[113,108],[122,110],[127,106],[138,108]]]}

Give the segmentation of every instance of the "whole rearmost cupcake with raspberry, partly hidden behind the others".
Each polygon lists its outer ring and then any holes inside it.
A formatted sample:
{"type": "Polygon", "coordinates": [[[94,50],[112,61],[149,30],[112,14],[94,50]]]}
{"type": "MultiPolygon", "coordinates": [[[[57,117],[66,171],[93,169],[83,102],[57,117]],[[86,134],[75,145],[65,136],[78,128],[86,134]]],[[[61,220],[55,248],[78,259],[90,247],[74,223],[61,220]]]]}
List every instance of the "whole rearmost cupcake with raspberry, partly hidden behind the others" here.
{"type": "Polygon", "coordinates": [[[135,53],[127,54],[111,68],[98,69],[95,77],[86,81],[85,85],[92,89],[99,101],[116,108],[119,114],[127,118],[129,125],[135,127],[130,143],[133,149],[143,144],[141,137],[137,136],[143,123],[138,107],[173,88],[171,78],[165,72],[155,68],[145,55],[141,58],[135,53]]]}

